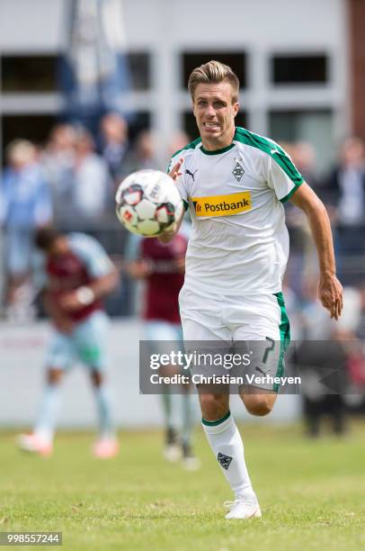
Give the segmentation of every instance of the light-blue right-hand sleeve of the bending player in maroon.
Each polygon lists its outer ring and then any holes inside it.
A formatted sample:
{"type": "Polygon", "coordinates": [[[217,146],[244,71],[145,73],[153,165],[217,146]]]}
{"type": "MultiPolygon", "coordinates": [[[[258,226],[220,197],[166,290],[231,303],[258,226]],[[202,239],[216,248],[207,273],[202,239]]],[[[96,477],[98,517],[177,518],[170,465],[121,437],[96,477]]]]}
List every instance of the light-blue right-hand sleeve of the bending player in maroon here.
{"type": "Polygon", "coordinates": [[[72,234],[69,239],[73,252],[85,263],[89,276],[108,276],[113,271],[111,259],[96,239],[85,234],[72,234]]]}

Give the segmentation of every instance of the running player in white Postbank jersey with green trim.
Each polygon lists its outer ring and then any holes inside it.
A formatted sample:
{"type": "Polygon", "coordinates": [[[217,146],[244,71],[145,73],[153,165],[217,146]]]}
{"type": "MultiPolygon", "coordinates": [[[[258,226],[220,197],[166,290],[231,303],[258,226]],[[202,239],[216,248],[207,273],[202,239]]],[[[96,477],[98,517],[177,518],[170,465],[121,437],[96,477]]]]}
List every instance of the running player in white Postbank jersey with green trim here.
{"type": "MultiPolygon", "coordinates": [[[[192,220],[179,297],[183,338],[278,342],[278,361],[271,366],[276,375],[283,371],[289,341],[281,294],[289,254],[282,203],[290,200],[307,215],[319,261],[319,299],[337,320],[343,291],[327,212],[277,143],[235,127],[239,82],[231,68],[218,61],[195,68],[189,91],[200,138],[178,151],[170,165],[192,220]]],[[[172,239],[174,231],[160,239],[172,239]]],[[[272,411],[277,390],[272,384],[245,385],[240,395],[247,411],[263,416],[272,411]]],[[[261,517],[229,393],[203,385],[199,392],[203,429],[235,493],[226,518],[261,517]]]]}

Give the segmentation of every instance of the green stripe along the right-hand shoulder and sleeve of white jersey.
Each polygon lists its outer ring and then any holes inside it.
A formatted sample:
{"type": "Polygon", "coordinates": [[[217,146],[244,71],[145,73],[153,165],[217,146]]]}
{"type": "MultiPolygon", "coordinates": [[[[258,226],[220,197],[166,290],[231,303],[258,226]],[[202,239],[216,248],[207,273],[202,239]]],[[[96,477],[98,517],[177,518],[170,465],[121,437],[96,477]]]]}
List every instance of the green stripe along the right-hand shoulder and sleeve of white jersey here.
{"type": "MultiPolygon", "coordinates": [[[[290,194],[294,193],[297,187],[303,183],[303,176],[299,174],[297,168],[294,166],[288,155],[285,153],[284,149],[280,148],[279,144],[275,143],[274,141],[268,140],[267,138],[263,138],[263,136],[254,134],[254,132],[247,131],[245,130],[245,128],[240,128],[239,126],[236,128],[234,140],[245,143],[245,145],[249,145],[253,148],[261,149],[262,151],[270,155],[270,157],[272,157],[274,161],[278,163],[285,174],[289,176],[292,183],[296,186],[294,190],[290,192],[290,194]]],[[[286,195],[286,197],[283,197],[281,199],[281,202],[289,199],[290,194],[286,195]]]]}

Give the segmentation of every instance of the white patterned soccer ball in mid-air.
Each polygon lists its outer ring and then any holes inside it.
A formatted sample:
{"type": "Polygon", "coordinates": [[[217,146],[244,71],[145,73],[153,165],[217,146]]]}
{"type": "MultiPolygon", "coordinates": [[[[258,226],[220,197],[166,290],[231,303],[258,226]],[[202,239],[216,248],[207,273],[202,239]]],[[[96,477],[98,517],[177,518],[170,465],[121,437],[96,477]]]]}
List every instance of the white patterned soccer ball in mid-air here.
{"type": "Polygon", "coordinates": [[[138,170],[127,176],[115,201],[124,228],[144,237],[167,230],[180,219],[183,209],[173,178],[159,170],[138,170]]]}

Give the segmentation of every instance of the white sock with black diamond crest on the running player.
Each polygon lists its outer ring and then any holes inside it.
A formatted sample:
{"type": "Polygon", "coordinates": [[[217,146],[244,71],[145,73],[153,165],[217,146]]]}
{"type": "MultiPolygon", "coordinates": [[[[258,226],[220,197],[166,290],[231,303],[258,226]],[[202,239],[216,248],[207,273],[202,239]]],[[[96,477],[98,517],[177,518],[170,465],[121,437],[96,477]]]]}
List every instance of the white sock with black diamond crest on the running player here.
{"type": "Polygon", "coordinates": [[[217,421],[203,419],[202,426],[236,498],[257,501],[245,465],[244,443],[230,411],[217,421]]]}

